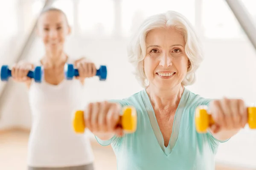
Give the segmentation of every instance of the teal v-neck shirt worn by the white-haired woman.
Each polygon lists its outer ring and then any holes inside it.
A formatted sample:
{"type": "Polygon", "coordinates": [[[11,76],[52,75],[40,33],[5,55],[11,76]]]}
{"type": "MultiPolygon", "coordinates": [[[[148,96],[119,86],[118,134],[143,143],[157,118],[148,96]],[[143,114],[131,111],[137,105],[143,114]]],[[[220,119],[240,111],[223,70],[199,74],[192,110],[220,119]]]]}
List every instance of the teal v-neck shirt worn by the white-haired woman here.
{"type": "Polygon", "coordinates": [[[209,105],[210,99],[184,89],[167,147],[145,89],[111,102],[134,106],[138,121],[135,133],[113,136],[107,141],[96,137],[99,144],[112,145],[117,170],[215,170],[214,156],[219,142],[224,141],[218,141],[211,133],[197,133],[194,121],[195,108],[209,105]]]}

